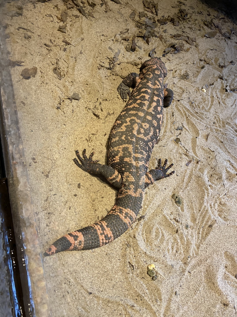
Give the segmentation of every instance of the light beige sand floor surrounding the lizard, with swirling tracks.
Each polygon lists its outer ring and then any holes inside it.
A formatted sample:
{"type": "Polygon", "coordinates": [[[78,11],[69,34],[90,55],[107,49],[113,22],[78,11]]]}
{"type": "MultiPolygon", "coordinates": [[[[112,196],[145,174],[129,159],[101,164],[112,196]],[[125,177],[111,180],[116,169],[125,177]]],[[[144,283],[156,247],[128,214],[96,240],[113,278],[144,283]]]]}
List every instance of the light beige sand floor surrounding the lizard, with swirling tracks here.
{"type": "Polygon", "coordinates": [[[41,252],[112,207],[116,191],[79,170],[72,161],[74,151],[86,148],[105,161],[110,129],[124,106],[116,90],[119,76],[138,72],[151,49],[160,57],[172,42],[184,43],[184,51],[162,58],[174,101],[164,111],[150,167],[157,158],[167,158],[176,174],[149,187],[140,212],[145,218],[110,245],[43,258],[48,304],[39,316],[235,316],[237,95],[230,90],[237,89],[236,25],[198,1],[162,0],[158,18],[181,8],[187,19],[179,26],[158,24],[155,32],[163,35],[162,41],[153,37],[148,45],[136,37],[135,52],[128,52],[133,35],[144,34],[129,18],[134,10],[140,20],[142,1],[108,1],[108,12],[94,2],[94,18],[86,19],[76,8],[67,11],[66,34],[58,31],[64,24],[58,19],[66,10],[63,1],[4,6],[9,57],[23,61],[22,67],[12,68],[12,79],[41,252]],[[17,5],[23,6],[23,14],[7,15],[19,10],[17,5]],[[204,25],[212,19],[219,31],[204,25]],[[28,30],[17,30],[19,26],[28,30]],[[223,36],[229,30],[230,39],[223,36]],[[216,36],[204,37],[210,31],[217,31],[216,36]],[[174,34],[195,37],[195,45],[174,39],[174,34]],[[126,36],[129,42],[123,40],[126,36]],[[100,66],[108,67],[107,57],[118,50],[112,71],[100,66]],[[61,80],[53,72],[57,61],[61,80]],[[131,65],[134,61],[138,67],[131,65]],[[35,77],[22,79],[23,68],[32,67],[37,67],[35,77]],[[189,78],[182,79],[186,72],[189,78]],[[81,99],[67,99],[73,93],[81,99]],[[181,197],[180,207],[173,194],[181,197]],[[147,275],[150,263],[160,272],[155,281],[147,275]]]}

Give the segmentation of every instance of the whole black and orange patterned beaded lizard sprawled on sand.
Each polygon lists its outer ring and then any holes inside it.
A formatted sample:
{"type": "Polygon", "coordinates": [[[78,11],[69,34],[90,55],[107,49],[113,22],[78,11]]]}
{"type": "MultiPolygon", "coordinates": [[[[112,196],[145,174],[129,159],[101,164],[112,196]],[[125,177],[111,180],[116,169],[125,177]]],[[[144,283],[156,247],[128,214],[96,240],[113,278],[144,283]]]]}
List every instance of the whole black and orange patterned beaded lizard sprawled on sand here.
{"type": "Polygon", "coordinates": [[[100,221],[58,239],[46,250],[45,256],[66,250],[93,249],[112,242],[136,220],[145,188],[174,173],[167,174],[173,166],[166,167],[167,159],[163,166],[159,159],[157,167],[147,172],[151,152],[161,131],[163,106],[169,106],[173,100],[173,91],[163,84],[166,75],[164,63],[155,57],[142,64],[140,75],[131,73],[119,85],[121,98],[125,101],[129,95],[130,99],[112,127],[108,165],[93,161],[94,152],[87,158],[86,150],[82,157],[76,151],[77,159],[74,159],[78,167],[104,176],[119,189],[116,203],[100,221]],[[132,94],[130,87],[134,88],[132,94]]]}

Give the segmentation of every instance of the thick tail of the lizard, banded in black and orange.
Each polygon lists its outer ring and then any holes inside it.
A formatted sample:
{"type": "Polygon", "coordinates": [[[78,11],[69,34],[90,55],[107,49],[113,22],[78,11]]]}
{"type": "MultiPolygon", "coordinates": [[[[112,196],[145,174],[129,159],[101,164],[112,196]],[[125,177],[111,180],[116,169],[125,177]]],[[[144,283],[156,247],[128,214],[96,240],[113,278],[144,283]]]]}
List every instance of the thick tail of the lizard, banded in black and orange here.
{"type": "MultiPolygon", "coordinates": [[[[138,210],[139,211],[139,210],[138,210]]],[[[85,250],[102,247],[121,236],[137,218],[137,213],[116,204],[100,221],[70,232],[55,241],[44,253],[51,256],[62,251],[85,250]]]]}

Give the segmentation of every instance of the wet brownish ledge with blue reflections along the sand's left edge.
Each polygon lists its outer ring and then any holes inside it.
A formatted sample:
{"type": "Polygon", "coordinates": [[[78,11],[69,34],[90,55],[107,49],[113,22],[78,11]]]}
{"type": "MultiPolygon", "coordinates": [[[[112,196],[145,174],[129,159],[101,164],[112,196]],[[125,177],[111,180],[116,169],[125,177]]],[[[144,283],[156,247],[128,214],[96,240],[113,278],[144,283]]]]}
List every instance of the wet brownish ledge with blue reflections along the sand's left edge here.
{"type": "MultiPolygon", "coordinates": [[[[23,301],[26,307],[26,316],[48,316],[48,296],[4,38],[4,29],[0,26],[1,139],[9,185],[23,301]]],[[[9,269],[11,270],[13,267],[10,265],[9,269]]],[[[15,292],[14,288],[12,291],[15,292]]],[[[16,315],[20,316],[21,312],[16,311],[16,315]]]]}

